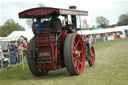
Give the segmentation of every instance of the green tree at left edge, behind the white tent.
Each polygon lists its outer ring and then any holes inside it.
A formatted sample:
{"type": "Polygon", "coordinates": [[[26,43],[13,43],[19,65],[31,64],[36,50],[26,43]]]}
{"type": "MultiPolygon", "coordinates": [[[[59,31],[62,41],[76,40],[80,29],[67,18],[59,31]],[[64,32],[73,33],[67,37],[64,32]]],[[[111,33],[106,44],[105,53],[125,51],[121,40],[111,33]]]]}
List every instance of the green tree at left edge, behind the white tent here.
{"type": "Polygon", "coordinates": [[[13,19],[8,19],[3,26],[0,27],[0,36],[6,37],[13,31],[24,31],[25,29],[16,23],[13,19]]]}

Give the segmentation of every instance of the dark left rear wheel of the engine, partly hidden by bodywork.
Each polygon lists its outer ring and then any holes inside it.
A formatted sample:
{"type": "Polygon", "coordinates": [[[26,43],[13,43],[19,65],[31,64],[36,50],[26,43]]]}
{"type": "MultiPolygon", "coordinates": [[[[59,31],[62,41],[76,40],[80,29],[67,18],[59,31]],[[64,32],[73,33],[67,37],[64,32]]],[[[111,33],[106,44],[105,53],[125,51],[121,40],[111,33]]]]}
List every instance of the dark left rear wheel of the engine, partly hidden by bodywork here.
{"type": "Polygon", "coordinates": [[[41,76],[43,74],[47,74],[48,71],[41,71],[40,70],[40,65],[37,64],[36,61],[36,55],[35,55],[35,42],[34,38],[31,39],[30,43],[28,44],[27,47],[27,60],[28,60],[28,65],[29,68],[35,76],[41,76]]]}

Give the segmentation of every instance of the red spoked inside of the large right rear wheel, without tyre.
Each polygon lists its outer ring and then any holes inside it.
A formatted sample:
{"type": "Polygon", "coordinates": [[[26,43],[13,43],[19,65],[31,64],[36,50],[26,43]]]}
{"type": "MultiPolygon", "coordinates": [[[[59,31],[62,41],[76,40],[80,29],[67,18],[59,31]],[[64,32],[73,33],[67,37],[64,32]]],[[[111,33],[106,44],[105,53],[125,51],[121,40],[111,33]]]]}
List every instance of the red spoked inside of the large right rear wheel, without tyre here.
{"type": "Polygon", "coordinates": [[[73,60],[78,73],[83,71],[85,64],[84,47],[81,42],[80,36],[77,35],[73,42],[73,60]]]}

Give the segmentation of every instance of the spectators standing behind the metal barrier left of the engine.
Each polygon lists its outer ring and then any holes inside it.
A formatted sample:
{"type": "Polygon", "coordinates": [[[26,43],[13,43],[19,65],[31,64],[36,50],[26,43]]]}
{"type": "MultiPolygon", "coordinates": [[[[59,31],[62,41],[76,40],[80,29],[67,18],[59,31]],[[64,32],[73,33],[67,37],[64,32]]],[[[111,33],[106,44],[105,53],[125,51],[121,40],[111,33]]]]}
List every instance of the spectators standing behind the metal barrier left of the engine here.
{"type": "Polygon", "coordinates": [[[8,54],[10,56],[10,65],[22,64],[24,55],[27,50],[27,43],[23,40],[22,42],[10,42],[8,45],[8,54]]]}

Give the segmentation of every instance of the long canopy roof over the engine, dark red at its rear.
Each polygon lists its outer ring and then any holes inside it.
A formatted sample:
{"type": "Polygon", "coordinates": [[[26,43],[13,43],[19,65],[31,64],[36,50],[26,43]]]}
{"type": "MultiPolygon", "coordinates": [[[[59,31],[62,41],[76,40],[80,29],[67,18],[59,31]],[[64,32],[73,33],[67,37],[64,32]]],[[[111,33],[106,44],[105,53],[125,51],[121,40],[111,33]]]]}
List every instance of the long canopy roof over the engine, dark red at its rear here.
{"type": "Polygon", "coordinates": [[[61,9],[52,7],[38,7],[31,8],[19,13],[19,18],[33,18],[37,16],[49,17],[50,14],[57,13],[59,15],[79,15],[87,16],[88,11],[73,10],[73,9],[61,9]]]}

